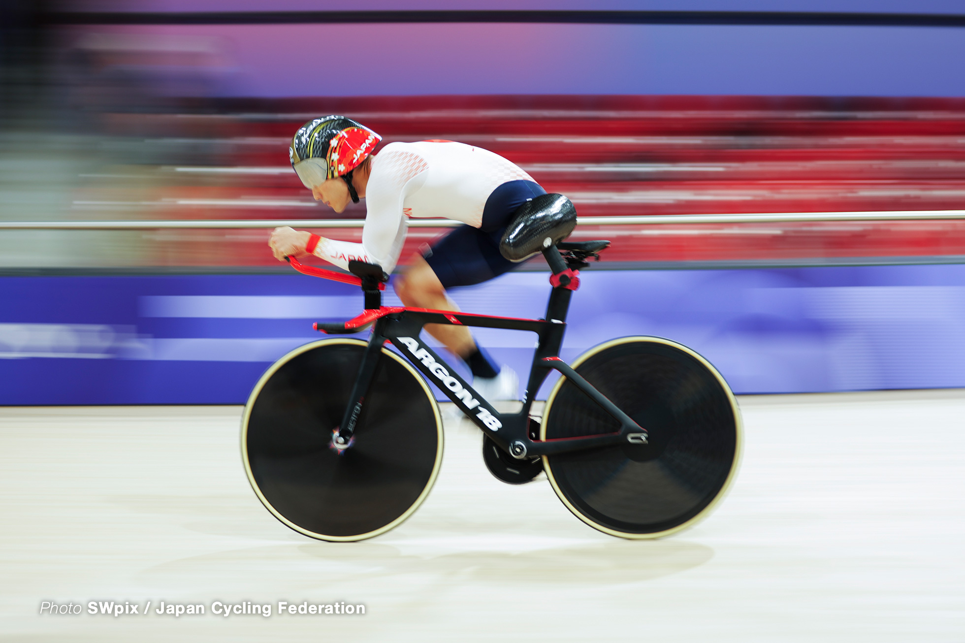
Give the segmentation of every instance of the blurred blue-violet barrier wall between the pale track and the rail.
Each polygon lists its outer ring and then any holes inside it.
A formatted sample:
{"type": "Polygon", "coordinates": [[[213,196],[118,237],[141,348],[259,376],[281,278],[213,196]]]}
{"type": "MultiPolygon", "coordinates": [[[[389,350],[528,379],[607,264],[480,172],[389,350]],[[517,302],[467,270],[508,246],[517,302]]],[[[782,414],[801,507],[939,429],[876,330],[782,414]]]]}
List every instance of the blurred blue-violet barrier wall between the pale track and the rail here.
{"type": "MultiPolygon", "coordinates": [[[[587,270],[581,278],[566,360],[614,337],[656,335],[703,354],[735,393],[965,386],[965,266],[587,270]]],[[[4,405],[239,404],[270,362],[321,337],[312,322],[345,320],[362,306],[354,287],[301,275],[0,284],[4,405]]],[[[545,274],[517,272],[454,298],[467,312],[538,318],[548,292],[545,274]]],[[[400,305],[394,295],[386,302],[400,305]]],[[[528,373],[534,334],[482,328],[476,336],[528,373]]],[[[540,398],[547,393],[548,384],[540,398]]]]}

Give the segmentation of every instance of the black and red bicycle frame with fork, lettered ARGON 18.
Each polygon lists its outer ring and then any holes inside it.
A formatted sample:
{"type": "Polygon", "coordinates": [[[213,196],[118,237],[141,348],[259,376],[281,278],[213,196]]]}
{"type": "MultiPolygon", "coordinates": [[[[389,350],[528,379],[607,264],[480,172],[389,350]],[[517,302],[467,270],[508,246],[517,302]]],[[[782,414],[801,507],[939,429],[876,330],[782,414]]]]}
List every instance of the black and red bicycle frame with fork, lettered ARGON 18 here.
{"type": "MultiPolygon", "coordinates": [[[[435,311],[420,308],[370,308],[370,300],[378,291],[372,293],[372,286],[363,286],[366,290],[366,313],[359,319],[375,318],[372,328],[372,338],[362,359],[358,377],[352,387],[349,400],[352,401],[345,408],[345,417],[336,434],[337,443],[347,445],[355,423],[365,404],[375,374],[375,368],[382,347],[386,342],[392,342],[400,352],[426,377],[434,382],[439,389],[458,406],[473,421],[483,433],[488,435],[496,444],[513,458],[523,460],[538,456],[581,451],[602,446],[617,444],[646,444],[647,432],[634,422],[629,416],[614,405],[610,400],[597,391],[586,379],[577,374],[562,359],[560,348],[566,328],[566,313],[569,309],[570,296],[575,289],[570,279],[575,274],[568,271],[568,277],[560,279],[560,275],[567,273],[566,266],[555,246],[550,248],[552,254],[544,252],[547,260],[554,255],[557,261],[550,261],[554,278],[551,283],[554,288],[550,293],[546,306],[545,320],[521,320],[504,317],[488,317],[469,313],[449,311],[435,311]],[[561,268],[562,266],[562,268],[561,268]],[[430,349],[420,338],[423,326],[427,323],[442,323],[451,325],[481,326],[485,328],[505,328],[508,330],[528,330],[537,333],[538,345],[533,356],[533,365],[526,385],[526,396],[523,407],[516,413],[501,413],[487,400],[477,393],[473,387],[446,364],[439,355],[430,349]],[[530,418],[530,409],[540,385],[549,376],[550,371],[559,371],[569,379],[578,389],[590,397],[604,411],[609,413],[620,424],[620,430],[615,433],[601,433],[578,437],[565,437],[540,440],[530,418]]],[[[579,282],[576,281],[575,284],[579,282]]],[[[372,302],[374,303],[374,302],[372,302]]],[[[346,324],[316,324],[319,330],[328,332],[345,332],[346,324]],[[337,328],[341,327],[341,330],[337,328]]],[[[352,332],[349,330],[349,332],[352,332]]]]}

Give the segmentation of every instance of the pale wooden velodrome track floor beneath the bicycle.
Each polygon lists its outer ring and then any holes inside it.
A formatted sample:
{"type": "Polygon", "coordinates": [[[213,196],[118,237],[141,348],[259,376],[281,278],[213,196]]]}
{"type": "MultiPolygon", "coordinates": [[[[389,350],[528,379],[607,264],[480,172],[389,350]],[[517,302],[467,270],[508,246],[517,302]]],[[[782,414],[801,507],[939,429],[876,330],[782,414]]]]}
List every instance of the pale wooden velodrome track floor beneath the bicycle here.
{"type": "Polygon", "coordinates": [[[3,641],[962,641],[965,391],[745,397],[746,448],[703,523],[621,541],[447,427],[435,489],[371,541],[262,508],[239,406],[0,408],[3,641]],[[39,615],[42,601],[81,603],[39,615]],[[89,601],[149,615],[87,613],[89,601]],[[159,601],[203,616],[159,616],[159,601]],[[271,603],[272,616],[210,613],[271,603]],[[366,605],[279,616],[278,601],[366,605]]]}

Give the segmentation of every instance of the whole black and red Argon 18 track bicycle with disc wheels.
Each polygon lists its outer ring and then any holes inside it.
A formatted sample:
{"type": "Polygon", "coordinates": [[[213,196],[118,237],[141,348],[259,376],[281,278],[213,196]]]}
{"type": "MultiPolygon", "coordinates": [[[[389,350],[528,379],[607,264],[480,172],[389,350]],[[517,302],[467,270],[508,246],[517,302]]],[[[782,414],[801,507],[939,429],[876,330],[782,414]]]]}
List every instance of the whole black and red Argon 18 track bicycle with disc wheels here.
{"type": "Polygon", "coordinates": [[[289,258],[299,272],[364,291],[358,317],[317,322],[317,330],[372,331],[368,342],[333,337],[293,349],[256,384],[241,450],[268,511],[335,542],[372,538],[411,516],[442,462],[442,418],[428,379],[482,430],[483,461],[496,478],[522,484],[545,471],[566,508],[602,532],[657,538],[705,517],[740,457],[731,389],[697,352],[658,337],[615,339],[566,364],[559,352],[579,270],[610,242],[552,240],[541,250],[552,290],[538,320],[383,306],[380,266],[351,262],[345,274],[289,258]],[[427,323],[536,333],[522,408],[500,412],[485,400],[423,341],[427,323]],[[561,377],[537,417],[534,400],[551,371],[561,377]]]}

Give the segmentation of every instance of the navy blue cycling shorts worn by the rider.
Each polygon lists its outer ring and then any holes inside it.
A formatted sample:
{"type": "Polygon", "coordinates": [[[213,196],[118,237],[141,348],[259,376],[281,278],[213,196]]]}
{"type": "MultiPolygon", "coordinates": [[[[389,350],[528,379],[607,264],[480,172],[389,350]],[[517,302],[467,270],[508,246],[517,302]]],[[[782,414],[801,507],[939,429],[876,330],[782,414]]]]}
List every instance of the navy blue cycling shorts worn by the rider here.
{"type": "Polygon", "coordinates": [[[503,183],[486,199],[479,228],[462,225],[433,242],[423,256],[443,288],[481,284],[520,266],[500,254],[499,242],[512,213],[540,194],[546,190],[532,181],[503,183]]]}

